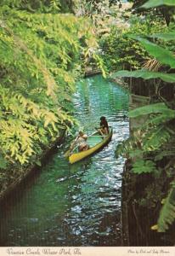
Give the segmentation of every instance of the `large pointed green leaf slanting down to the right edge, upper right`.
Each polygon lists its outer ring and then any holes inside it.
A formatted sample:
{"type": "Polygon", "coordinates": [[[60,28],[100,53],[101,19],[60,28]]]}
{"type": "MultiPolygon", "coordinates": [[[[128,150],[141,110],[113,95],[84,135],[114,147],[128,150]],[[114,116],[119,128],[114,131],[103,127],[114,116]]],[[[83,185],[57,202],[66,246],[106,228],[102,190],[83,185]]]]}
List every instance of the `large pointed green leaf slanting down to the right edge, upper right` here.
{"type": "Polygon", "coordinates": [[[172,55],[172,53],[168,49],[164,49],[157,44],[153,44],[145,38],[140,38],[133,35],[131,35],[130,37],[138,40],[150,53],[150,55],[155,57],[157,61],[160,61],[161,63],[167,64],[170,67],[175,68],[175,56],[172,55]]]}

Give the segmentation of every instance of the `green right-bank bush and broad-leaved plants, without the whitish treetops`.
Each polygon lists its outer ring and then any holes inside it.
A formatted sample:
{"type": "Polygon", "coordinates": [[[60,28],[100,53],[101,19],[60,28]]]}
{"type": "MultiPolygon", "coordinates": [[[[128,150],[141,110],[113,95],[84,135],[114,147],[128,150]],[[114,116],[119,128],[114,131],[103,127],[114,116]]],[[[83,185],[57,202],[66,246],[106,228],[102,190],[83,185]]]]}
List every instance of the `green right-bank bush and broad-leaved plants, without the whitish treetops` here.
{"type": "MultiPolygon", "coordinates": [[[[162,1],[156,1],[155,4],[148,1],[144,3],[143,9],[162,8],[162,5],[166,8],[175,4],[173,1],[163,1],[163,4],[162,1]]],[[[167,14],[172,14],[171,10],[173,8],[168,9],[167,14]]],[[[143,116],[147,119],[125,143],[118,146],[117,154],[127,156],[135,175],[148,174],[149,183],[144,184],[135,199],[138,205],[150,209],[159,206],[160,210],[163,204],[159,218],[157,215],[157,224],[152,229],[164,232],[175,219],[174,21],[172,16],[170,22],[166,19],[162,21],[159,15],[145,15],[144,19],[138,15],[137,19],[134,23],[131,21],[131,26],[122,31],[121,35],[116,30],[110,36],[110,41],[104,42],[104,49],[107,49],[109,55],[106,63],[108,67],[114,65],[110,70],[127,69],[113,77],[150,79],[148,85],[155,92],[153,96],[150,95],[150,105],[129,113],[132,119],[137,120],[143,116]],[[165,93],[166,90],[170,91],[169,95],[165,93]]],[[[133,183],[137,183],[135,176],[133,183]]]]}

